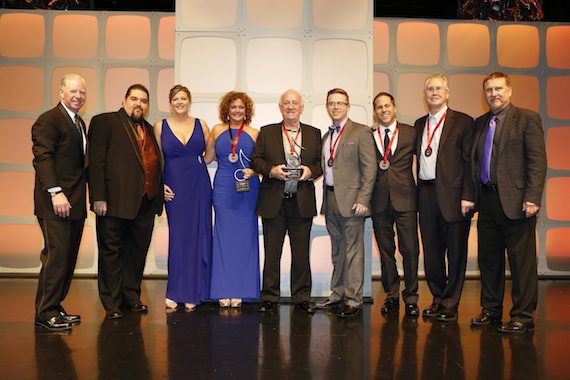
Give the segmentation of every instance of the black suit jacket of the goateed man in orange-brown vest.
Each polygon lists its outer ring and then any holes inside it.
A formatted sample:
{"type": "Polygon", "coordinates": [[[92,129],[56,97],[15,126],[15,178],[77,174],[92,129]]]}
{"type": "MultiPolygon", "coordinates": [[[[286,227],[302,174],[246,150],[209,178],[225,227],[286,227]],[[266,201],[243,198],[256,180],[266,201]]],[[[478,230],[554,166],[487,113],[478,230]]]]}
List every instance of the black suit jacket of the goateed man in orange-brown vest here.
{"type": "MultiPolygon", "coordinates": [[[[159,159],[159,189],[162,190],[162,155],[152,126],[148,128],[151,143],[159,159]]],[[[130,117],[121,108],[117,112],[99,114],[89,128],[89,198],[93,202],[107,201],[107,216],[136,218],[145,194],[144,167],[130,117]]],[[[162,213],[164,192],[159,191],[151,208],[162,213]]]]}

